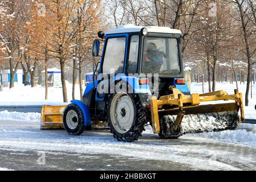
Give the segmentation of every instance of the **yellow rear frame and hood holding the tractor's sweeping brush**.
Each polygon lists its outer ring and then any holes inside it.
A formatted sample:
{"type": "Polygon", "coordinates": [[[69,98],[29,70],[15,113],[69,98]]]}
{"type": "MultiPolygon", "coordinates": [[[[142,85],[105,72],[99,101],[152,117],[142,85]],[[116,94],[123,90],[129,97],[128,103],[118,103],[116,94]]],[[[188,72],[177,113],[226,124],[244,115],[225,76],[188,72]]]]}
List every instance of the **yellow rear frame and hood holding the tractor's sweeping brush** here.
{"type": "MultiPolygon", "coordinates": [[[[190,122],[194,122],[196,119],[199,120],[198,122],[202,122],[200,120],[204,120],[205,118],[206,120],[209,119],[216,122],[224,121],[225,125],[218,127],[220,130],[232,128],[233,122],[238,121],[240,123],[245,119],[245,115],[243,113],[242,94],[235,90],[233,95],[229,95],[225,91],[217,91],[185,96],[178,89],[174,88],[173,94],[162,96],[159,100],[157,100],[157,97],[152,97],[151,122],[154,133],[160,133],[161,119],[166,120],[166,116],[168,116],[167,119],[173,120],[172,130],[176,131],[178,126],[181,125],[184,116],[186,115],[193,115],[193,117],[190,116],[190,118],[186,118],[186,122],[188,122],[186,125],[187,127],[190,127],[190,122]],[[221,100],[233,100],[234,102],[200,105],[202,102],[221,100]],[[164,105],[169,106],[169,108],[163,109],[164,105]],[[241,112],[241,117],[238,117],[239,110],[241,112]],[[177,117],[174,118],[172,117],[173,115],[177,115],[177,117]],[[214,117],[217,119],[214,120],[214,117]]],[[[194,130],[196,129],[193,129],[193,131],[194,130]]]]}

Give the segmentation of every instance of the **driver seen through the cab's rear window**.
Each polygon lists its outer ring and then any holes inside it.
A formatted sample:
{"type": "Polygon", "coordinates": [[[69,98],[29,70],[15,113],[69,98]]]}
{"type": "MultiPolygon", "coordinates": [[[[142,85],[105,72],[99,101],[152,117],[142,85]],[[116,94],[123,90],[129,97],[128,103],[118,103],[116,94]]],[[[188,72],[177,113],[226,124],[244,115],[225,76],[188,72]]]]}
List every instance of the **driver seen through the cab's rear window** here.
{"type": "Polygon", "coordinates": [[[145,54],[145,71],[151,73],[152,71],[155,73],[159,73],[162,63],[164,63],[164,59],[166,55],[164,52],[159,51],[157,49],[155,43],[148,43],[147,52],[145,54]]]}

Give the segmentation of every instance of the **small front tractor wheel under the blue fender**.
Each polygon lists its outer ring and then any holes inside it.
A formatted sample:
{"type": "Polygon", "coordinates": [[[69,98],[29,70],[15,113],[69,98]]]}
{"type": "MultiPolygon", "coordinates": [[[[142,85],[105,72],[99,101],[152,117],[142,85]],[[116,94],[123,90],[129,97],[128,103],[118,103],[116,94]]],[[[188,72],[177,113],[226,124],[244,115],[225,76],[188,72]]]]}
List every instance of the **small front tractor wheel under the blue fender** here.
{"type": "Polygon", "coordinates": [[[84,115],[75,104],[66,107],[63,113],[64,129],[70,135],[80,135],[84,131],[84,115]]]}

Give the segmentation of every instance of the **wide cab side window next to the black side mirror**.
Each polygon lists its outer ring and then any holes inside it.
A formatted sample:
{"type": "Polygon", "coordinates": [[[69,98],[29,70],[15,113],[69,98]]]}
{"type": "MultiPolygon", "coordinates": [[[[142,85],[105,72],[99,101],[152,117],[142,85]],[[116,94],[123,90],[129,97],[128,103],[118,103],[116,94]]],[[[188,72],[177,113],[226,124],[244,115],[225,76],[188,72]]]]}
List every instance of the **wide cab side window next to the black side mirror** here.
{"type": "Polygon", "coordinates": [[[126,38],[109,38],[105,48],[103,73],[122,73],[124,69],[126,38]]]}

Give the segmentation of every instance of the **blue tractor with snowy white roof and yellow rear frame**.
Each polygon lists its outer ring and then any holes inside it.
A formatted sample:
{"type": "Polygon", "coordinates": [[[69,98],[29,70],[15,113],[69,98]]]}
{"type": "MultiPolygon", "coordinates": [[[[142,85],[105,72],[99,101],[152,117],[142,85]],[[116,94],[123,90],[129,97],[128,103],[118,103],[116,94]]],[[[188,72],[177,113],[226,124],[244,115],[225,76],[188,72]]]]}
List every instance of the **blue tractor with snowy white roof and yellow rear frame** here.
{"type": "MultiPolygon", "coordinates": [[[[71,101],[63,113],[68,134],[80,135],[91,129],[93,121],[103,121],[108,123],[113,137],[124,142],[137,140],[148,123],[160,137],[178,138],[184,133],[181,122],[185,114],[205,114],[213,110],[214,113],[234,113],[229,115],[230,123],[222,128],[237,126],[240,100],[235,100],[233,105],[212,105],[204,109],[198,106],[204,97],[190,94],[184,80],[181,53],[181,40],[187,40],[188,35],[182,36],[181,31],[168,27],[129,25],[100,31],[98,36],[93,56],[101,56],[101,60],[94,71],[94,81],[86,86],[83,101],[71,101]]],[[[225,100],[224,92],[208,95],[216,94],[222,94],[219,100],[225,100]]]]}

